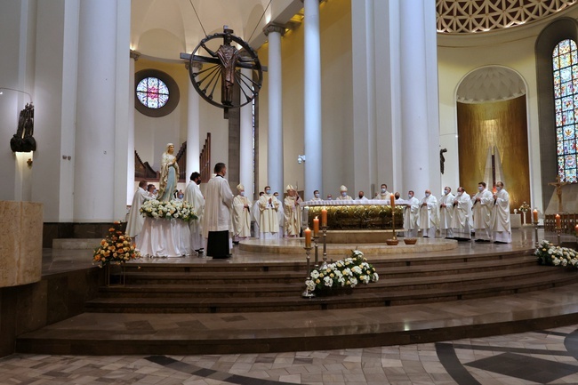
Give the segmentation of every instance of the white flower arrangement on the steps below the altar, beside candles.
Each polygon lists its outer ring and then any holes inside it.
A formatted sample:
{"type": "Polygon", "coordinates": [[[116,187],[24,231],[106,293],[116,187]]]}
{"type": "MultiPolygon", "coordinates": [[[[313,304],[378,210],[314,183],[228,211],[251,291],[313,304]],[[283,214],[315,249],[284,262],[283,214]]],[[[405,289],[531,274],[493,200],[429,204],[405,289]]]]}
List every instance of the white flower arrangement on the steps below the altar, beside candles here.
{"type": "Polygon", "coordinates": [[[380,277],[375,268],[367,263],[364,253],[358,250],[343,261],[327,264],[327,269],[313,269],[305,280],[309,293],[336,287],[355,287],[359,283],[377,282],[380,277]]]}

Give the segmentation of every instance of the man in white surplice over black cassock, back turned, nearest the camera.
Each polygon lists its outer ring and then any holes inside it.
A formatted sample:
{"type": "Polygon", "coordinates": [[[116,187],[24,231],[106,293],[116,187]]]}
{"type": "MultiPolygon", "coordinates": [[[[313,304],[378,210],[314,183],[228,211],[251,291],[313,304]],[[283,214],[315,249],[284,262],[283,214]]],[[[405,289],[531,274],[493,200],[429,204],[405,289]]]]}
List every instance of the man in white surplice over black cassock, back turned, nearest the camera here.
{"type": "Polygon", "coordinates": [[[206,186],[203,235],[207,238],[206,255],[213,259],[229,258],[230,208],[233,193],[225,179],[227,167],[224,163],[214,166],[217,174],[206,186]]]}

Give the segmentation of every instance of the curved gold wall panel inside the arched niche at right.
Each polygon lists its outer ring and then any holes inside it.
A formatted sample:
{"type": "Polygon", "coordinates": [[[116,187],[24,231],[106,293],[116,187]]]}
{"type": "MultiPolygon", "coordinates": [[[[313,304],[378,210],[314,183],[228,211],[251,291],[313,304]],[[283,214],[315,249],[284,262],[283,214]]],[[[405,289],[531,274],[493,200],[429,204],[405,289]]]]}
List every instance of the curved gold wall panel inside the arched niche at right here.
{"type": "MultiPolygon", "coordinates": [[[[510,210],[530,202],[526,96],[491,103],[457,103],[460,185],[473,195],[484,179],[490,146],[498,148],[510,210]]],[[[492,186],[488,186],[492,188],[492,186]]]]}

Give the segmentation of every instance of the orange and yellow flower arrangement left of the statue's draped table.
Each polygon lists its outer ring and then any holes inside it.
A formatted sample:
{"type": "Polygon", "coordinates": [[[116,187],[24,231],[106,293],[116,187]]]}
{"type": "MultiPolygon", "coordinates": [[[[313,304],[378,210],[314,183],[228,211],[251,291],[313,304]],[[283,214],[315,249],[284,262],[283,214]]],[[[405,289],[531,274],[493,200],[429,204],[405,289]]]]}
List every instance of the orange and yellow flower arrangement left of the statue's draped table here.
{"type": "Polygon", "coordinates": [[[115,221],[108,229],[108,236],[100,241],[100,246],[94,249],[92,263],[100,263],[100,267],[110,263],[124,263],[140,258],[140,252],[135,250],[131,237],[119,230],[120,222],[115,221]]]}

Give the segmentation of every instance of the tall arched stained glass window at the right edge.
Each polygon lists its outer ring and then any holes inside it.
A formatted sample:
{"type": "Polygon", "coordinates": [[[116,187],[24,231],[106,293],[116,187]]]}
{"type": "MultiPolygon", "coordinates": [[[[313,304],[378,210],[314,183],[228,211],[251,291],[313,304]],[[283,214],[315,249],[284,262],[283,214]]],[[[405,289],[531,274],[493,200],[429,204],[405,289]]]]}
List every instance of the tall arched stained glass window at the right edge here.
{"type": "Polygon", "coordinates": [[[578,49],[574,40],[563,40],[552,52],[554,108],[556,108],[556,155],[560,180],[578,182],[578,49]]]}

